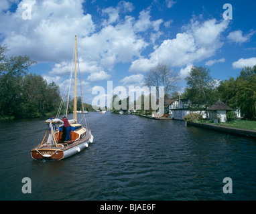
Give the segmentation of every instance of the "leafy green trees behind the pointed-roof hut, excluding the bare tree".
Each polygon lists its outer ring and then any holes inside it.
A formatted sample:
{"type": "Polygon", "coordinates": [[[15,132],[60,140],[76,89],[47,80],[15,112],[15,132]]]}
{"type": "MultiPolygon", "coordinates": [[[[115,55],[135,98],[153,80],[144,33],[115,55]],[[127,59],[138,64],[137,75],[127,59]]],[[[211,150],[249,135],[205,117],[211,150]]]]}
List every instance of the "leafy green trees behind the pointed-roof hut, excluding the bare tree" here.
{"type": "Polygon", "coordinates": [[[190,107],[207,110],[220,99],[240,110],[243,118],[256,120],[256,65],[243,68],[237,78],[222,81],[214,80],[208,68],[194,67],[186,81],[184,96],[192,102],[190,107]]]}

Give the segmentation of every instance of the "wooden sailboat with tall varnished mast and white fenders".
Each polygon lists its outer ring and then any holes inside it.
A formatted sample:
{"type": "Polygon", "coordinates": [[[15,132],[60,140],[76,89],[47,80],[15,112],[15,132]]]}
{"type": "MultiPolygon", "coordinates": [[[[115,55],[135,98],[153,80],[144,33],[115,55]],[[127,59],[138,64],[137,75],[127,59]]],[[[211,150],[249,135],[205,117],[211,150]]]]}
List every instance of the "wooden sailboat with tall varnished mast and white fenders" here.
{"type": "MultiPolygon", "coordinates": [[[[68,120],[71,126],[70,131],[70,141],[64,142],[65,136],[62,136],[63,132],[63,124],[64,122],[58,119],[60,116],[60,110],[62,108],[64,102],[64,96],[62,97],[62,102],[60,104],[60,108],[56,115],[55,119],[46,120],[45,123],[48,124],[48,129],[46,130],[46,134],[44,138],[38,146],[31,149],[31,157],[35,160],[62,160],[73,154],[76,154],[82,151],[84,148],[87,148],[90,143],[93,142],[93,136],[88,128],[88,124],[86,122],[85,116],[84,118],[85,124],[82,125],[77,123],[76,116],[76,57],[78,58],[78,54],[76,54],[76,36],[75,36],[75,45],[74,45],[74,118],[72,120],[68,120]],[[46,139],[46,136],[48,138],[46,139]]],[[[79,65],[79,64],[78,64],[79,65]]],[[[79,68],[79,66],[78,66],[79,68]]],[[[72,72],[70,74],[70,83],[72,79],[72,72]]],[[[70,88],[69,88],[70,89],[70,88]]],[[[70,91],[70,90],[69,90],[70,91]]],[[[82,92],[82,90],[81,90],[82,92]]],[[[65,94],[65,93],[64,93],[65,94]]],[[[68,98],[69,98],[69,93],[68,98]]],[[[82,96],[81,96],[82,97],[82,96]]],[[[67,99],[69,100],[69,99],[67,99]]],[[[84,111],[84,107],[82,106],[84,111]]],[[[66,115],[68,113],[68,104],[66,106],[66,115]]]]}

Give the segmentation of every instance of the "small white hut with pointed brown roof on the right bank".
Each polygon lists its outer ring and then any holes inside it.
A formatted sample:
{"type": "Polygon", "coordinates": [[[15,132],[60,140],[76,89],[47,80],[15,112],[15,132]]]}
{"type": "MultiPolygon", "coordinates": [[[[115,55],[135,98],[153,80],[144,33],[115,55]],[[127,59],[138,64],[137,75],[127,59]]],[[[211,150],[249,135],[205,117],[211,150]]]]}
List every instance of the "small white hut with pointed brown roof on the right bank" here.
{"type": "Polygon", "coordinates": [[[212,106],[208,107],[207,110],[210,112],[210,120],[217,118],[219,115],[220,122],[226,122],[226,112],[227,110],[233,110],[233,108],[218,100],[212,106]]]}

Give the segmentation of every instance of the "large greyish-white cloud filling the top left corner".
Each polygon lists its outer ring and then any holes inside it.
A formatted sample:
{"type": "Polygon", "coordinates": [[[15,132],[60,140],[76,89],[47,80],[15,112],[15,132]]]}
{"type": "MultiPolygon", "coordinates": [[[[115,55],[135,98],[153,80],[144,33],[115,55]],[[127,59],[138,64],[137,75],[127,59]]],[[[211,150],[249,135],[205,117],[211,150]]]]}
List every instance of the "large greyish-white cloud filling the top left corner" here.
{"type": "Polygon", "coordinates": [[[82,0],[21,1],[15,12],[1,13],[0,19],[9,54],[26,54],[39,62],[70,60],[74,35],[84,37],[95,29],[92,16],[83,14],[82,0]],[[22,18],[23,3],[31,5],[30,20],[22,18]]]}

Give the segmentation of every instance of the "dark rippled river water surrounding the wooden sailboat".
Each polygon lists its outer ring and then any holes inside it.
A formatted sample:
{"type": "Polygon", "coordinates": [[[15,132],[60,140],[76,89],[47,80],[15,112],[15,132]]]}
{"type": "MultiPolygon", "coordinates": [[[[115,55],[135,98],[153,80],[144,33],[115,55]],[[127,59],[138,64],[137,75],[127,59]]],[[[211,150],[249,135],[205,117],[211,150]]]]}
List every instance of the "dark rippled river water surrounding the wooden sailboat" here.
{"type": "Polygon", "coordinates": [[[255,139],[178,120],[111,112],[86,118],[94,142],[60,161],[30,156],[47,118],[0,122],[0,199],[256,199],[255,139]],[[31,179],[30,194],[21,191],[24,177],[31,179]],[[223,193],[225,177],[232,179],[233,193],[223,193]]]}

